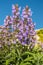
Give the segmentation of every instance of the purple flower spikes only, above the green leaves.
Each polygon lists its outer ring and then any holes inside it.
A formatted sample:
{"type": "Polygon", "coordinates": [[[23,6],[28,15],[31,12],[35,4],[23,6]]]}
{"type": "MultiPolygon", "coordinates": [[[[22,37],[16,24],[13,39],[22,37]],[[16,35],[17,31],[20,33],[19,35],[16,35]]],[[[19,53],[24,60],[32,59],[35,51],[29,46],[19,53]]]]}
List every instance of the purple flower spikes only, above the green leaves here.
{"type": "MultiPolygon", "coordinates": [[[[22,13],[20,13],[21,7],[17,4],[12,5],[12,16],[6,16],[4,20],[4,39],[7,44],[16,43],[19,41],[21,44],[35,43],[35,30],[34,23],[32,22],[31,9],[26,6],[22,13]]],[[[5,43],[4,41],[4,43],[5,43]]]]}

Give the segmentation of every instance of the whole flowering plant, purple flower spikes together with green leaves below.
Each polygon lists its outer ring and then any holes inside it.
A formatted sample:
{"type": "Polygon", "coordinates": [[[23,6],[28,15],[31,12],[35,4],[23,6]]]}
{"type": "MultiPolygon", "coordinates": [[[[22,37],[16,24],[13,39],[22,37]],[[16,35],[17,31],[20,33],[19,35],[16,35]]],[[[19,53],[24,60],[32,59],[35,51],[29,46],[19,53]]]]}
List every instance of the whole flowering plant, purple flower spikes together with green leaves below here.
{"type": "Polygon", "coordinates": [[[26,6],[20,11],[12,5],[12,16],[6,16],[0,26],[0,65],[43,65],[43,44],[35,44],[31,9],[26,6]]]}

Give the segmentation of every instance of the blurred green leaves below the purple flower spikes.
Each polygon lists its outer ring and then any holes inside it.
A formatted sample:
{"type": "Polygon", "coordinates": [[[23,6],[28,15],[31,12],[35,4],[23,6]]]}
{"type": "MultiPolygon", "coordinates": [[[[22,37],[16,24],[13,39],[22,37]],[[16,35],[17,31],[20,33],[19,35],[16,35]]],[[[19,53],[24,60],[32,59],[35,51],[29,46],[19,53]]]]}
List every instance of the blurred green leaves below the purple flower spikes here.
{"type": "Polygon", "coordinates": [[[0,48],[0,65],[43,65],[43,49],[11,44],[0,48]]]}

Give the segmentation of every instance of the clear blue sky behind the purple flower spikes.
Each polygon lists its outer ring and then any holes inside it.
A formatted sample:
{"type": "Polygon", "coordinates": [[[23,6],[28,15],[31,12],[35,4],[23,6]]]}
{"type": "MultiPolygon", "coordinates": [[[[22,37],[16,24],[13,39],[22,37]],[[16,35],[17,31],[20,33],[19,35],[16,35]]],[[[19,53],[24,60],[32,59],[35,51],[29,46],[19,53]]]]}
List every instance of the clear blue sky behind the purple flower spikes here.
{"type": "Polygon", "coordinates": [[[35,28],[43,28],[43,0],[0,0],[0,25],[4,24],[6,15],[12,15],[12,4],[18,4],[22,8],[28,5],[33,12],[35,28]]]}

